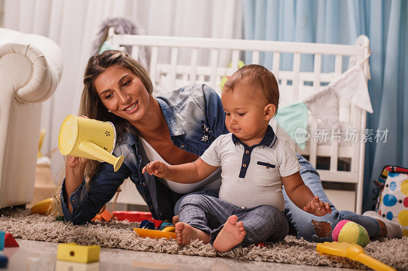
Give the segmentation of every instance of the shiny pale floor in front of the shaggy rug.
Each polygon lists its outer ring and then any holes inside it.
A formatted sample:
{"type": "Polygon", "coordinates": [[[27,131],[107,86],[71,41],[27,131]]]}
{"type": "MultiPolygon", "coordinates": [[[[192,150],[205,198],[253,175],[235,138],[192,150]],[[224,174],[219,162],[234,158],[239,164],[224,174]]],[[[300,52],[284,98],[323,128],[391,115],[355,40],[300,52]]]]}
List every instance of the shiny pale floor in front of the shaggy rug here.
{"type": "Polygon", "coordinates": [[[293,265],[273,262],[240,261],[166,253],[136,252],[101,248],[99,262],[74,263],[57,261],[57,243],[17,239],[19,248],[5,248],[1,254],[9,258],[7,268],[17,271],[127,271],[127,270],[351,270],[345,268],[293,265]]]}

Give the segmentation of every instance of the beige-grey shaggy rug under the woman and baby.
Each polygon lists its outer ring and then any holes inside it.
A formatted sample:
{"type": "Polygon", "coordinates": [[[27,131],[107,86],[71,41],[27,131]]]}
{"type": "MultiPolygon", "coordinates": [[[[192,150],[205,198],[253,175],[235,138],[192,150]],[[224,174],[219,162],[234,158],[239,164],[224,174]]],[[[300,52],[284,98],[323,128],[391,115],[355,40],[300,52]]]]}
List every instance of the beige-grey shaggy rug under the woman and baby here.
{"type": "MultiPolygon", "coordinates": [[[[269,261],[300,265],[325,265],[332,267],[367,268],[353,260],[320,255],[316,243],[295,236],[287,236],[283,242],[266,243],[260,248],[254,245],[239,247],[225,253],[215,251],[210,244],[195,240],[190,245],[179,246],[175,240],[138,237],[133,227],[136,222],[92,222],[72,225],[56,221],[52,217],[33,215],[28,209],[1,209],[0,230],[10,232],[15,238],[42,240],[45,242],[99,245],[133,251],[149,251],[168,254],[226,257],[239,260],[269,261]]],[[[408,237],[402,239],[375,240],[365,248],[366,254],[399,270],[408,270],[408,237]]]]}

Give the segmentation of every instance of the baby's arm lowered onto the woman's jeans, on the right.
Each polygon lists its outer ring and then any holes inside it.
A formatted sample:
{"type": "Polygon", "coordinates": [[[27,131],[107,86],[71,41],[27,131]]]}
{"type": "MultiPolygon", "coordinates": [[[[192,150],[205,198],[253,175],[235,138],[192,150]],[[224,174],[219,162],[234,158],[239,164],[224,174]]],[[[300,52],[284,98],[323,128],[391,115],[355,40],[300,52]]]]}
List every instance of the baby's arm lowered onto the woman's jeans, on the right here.
{"type": "Polygon", "coordinates": [[[319,197],[313,195],[309,187],[303,183],[299,171],[290,176],[282,177],[282,182],[286,194],[300,209],[319,217],[331,213],[330,205],[319,200],[319,197]]]}

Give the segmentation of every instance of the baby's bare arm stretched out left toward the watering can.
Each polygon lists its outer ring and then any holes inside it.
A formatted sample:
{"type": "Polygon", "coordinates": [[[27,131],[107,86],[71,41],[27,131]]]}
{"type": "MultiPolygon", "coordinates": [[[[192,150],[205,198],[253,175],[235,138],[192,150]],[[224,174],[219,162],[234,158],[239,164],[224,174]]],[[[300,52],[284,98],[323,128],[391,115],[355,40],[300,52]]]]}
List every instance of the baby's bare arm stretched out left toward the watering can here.
{"type": "Polygon", "coordinates": [[[166,165],[161,161],[153,161],[148,163],[142,169],[150,175],[165,178],[176,183],[193,184],[210,176],[218,167],[211,166],[199,158],[194,163],[181,165],[166,165]]]}

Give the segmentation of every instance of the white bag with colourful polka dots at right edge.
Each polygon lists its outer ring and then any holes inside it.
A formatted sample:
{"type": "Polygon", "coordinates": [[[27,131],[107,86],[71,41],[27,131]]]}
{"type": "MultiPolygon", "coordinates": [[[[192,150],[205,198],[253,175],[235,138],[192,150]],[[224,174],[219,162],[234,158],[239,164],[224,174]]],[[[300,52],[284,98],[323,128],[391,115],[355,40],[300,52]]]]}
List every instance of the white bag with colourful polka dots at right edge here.
{"type": "Polygon", "coordinates": [[[408,169],[386,166],[379,182],[384,189],[378,197],[376,212],[400,224],[403,235],[408,236],[408,169]]]}

